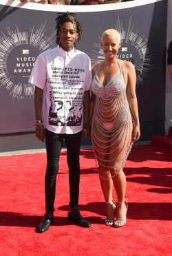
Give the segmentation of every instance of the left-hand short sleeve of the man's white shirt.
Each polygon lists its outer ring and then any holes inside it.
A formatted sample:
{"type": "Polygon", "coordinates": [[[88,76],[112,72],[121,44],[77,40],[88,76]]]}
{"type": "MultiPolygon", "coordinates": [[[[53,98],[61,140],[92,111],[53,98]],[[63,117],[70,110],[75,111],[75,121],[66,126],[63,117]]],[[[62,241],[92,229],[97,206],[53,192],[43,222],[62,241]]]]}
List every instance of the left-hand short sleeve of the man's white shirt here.
{"type": "Polygon", "coordinates": [[[29,83],[44,89],[47,79],[47,65],[43,56],[39,55],[34,63],[34,68],[29,78],[29,83]]]}

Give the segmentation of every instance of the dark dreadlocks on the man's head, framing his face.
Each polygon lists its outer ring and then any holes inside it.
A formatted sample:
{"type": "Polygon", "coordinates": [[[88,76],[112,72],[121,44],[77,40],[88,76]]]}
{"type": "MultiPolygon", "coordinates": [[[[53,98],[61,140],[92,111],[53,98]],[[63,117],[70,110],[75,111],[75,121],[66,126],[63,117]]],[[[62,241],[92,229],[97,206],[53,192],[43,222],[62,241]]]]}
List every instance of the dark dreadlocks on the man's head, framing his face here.
{"type": "MultiPolygon", "coordinates": [[[[78,33],[78,43],[80,41],[80,34],[83,32],[82,27],[78,21],[74,18],[76,16],[73,12],[58,12],[58,17],[56,18],[56,43],[57,45],[60,45],[60,38],[58,37],[58,34],[61,30],[61,26],[63,23],[71,22],[76,26],[76,32],[78,33]]],[[[76,50],[76,43],[74,42],[74,48],[76,50]]]]}

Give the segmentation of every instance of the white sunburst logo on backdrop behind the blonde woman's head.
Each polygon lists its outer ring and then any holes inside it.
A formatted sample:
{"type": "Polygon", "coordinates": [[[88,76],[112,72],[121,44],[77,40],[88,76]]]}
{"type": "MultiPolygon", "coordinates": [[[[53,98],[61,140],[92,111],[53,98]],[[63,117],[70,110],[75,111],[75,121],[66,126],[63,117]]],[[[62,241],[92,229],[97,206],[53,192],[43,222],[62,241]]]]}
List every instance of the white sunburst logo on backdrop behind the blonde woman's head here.
{"type": "MultiPolygon", "coordinates": [[[[122,43],[122,47],[119,49],[117,57],[121,59],[125,58],[125,61],[131,61],[133,63],[137,74],[136,85],[142,85],[144,83],[144,78],[152,78],[150,74],[151,70],[156,68],[155,65],[152,64],[153,50],[151,48],[151,44],[144,34],[140,36],[138,35],[138,31],[134,31],[132,16],[129,18],[129,25],[127,29],[123,28],[122,21],[120,21],[119,17],[114,29],[120,33],[122,43]],[[126,54],[126,52],[129,52],[129,54],[126,54]],[[135,65],[135,62],[138,63],[135,65]]],[[[100,37],[99,39],[101,41],[100,37]]],[[[98,50],[92,50],[94,54],[89,54],[92,64],[105,60],[101,44],[94,43],[94,46],[97,47],[98,50]]]]}

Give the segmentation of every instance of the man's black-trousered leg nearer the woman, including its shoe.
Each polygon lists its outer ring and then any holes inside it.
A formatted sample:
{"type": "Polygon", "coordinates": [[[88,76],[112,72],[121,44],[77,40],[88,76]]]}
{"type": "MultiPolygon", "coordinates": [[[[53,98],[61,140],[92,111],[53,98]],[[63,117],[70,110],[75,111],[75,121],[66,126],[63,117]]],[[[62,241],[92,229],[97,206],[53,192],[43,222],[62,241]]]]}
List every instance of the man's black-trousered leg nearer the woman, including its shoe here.
{"type": "Polygon", "coordinates": [[[89,227],[91,224],[80,215],[78,211],[79,182],[80,182],[80,142],[83,131],[77,134],[66,134],[65,143],[67,146],[67,164],[69,167],[69,220],[74,220],[81,226],[89,227]]]}

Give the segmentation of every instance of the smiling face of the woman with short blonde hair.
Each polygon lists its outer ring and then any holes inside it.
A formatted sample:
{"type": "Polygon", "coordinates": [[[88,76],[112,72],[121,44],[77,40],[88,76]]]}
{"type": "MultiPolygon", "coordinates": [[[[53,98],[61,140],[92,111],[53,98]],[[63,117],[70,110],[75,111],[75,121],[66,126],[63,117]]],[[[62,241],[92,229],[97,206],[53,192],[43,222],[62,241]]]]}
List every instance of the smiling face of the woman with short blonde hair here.
{"type": "Polygon", "coordinates": [[[101,42],[103,52],[106,58],[113,58],[118,53],[121,42],[119,42],[118,36],[116,34],[108,34],[103,36],[101,42]]]}

